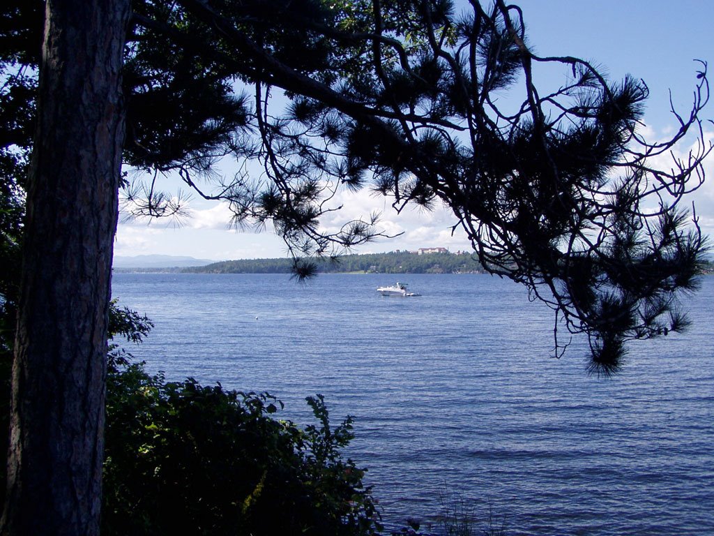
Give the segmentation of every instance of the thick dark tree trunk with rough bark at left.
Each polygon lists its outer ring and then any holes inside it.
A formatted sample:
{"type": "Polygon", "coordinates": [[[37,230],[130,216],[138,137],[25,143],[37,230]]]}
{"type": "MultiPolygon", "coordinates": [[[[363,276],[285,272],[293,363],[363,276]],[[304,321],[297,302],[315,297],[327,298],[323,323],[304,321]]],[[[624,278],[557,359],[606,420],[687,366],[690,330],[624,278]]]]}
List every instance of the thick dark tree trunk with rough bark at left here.
{"type": "Polygon", "coordinates": [[[97,535],[129,0],[49,0],[2,534],[97,535]]]}

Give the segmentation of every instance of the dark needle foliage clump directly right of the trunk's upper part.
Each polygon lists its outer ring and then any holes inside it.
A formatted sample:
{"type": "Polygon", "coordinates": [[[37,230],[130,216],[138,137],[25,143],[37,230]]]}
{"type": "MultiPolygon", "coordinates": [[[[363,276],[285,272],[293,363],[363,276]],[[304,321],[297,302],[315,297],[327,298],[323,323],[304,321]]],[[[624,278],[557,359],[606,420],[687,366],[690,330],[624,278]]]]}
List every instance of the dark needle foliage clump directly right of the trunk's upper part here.
{"type": "Polygon", "coordinates": [[[134,7],[137,21],[155,24],[134,26],[126,50],[124,162],[141,169],[206,172],[246,124],[243,99],[233,95],[226,66],[201,54],[208,36],[195,20],[164,2],[134,7]],[[156,26],[172,26],[176,39],[160,39],[156,26]],[[193,46],[186,46],[189,39],[193,46]]]}

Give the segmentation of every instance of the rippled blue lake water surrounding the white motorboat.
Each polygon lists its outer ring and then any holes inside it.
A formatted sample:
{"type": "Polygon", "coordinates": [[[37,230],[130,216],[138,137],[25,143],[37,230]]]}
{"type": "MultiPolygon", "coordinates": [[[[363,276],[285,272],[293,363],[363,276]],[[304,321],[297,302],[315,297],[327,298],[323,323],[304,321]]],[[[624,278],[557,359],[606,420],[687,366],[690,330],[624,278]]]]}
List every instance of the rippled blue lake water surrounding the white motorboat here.
{"type": "Polygon", "coordinates": [[[509,535],[714,535],[714,277],[693,326],[630,344],[622,373],[585,372],[585,341],[550,357],[553,314],[486,275],[114,274],[156,327],[130,351],[169,379],[269,391],[309,420],[322,393],[356,418],[387,525],[433,522],[444,490],[509,535]]]}

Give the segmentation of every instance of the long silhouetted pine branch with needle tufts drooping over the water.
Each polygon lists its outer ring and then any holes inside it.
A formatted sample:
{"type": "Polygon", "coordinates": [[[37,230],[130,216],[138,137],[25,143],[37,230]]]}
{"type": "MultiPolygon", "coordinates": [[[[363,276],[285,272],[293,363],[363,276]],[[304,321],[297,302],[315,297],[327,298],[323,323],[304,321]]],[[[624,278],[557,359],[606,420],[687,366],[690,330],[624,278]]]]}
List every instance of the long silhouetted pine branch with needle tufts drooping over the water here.
{"type": "Polygon", "coordinates": [[[649,142],[643,81],[610,83],[587,61],[533,54],[521,10],[503,1],[472,2],[457,18],[448,2],[375,0],[352,29],[320,6],[308,17],[278,3],[246,26],[231,4],[180,5],[213,29],[205,46],[230,50],[223,65],[254,87],[246,126],[257,135],[241,131],[236,154],[260,162],[261,179],[243,174],[218,196],[236,223],[272,220],[301,259],[378,234],[372,217],[321,229],[338,189],[371,187],[397,210],[443,202],[486,269],[553,307],[556,354],[565,346],[558,325],[585,333],[593,368],[609,373],[626,340],[685,327],[677,296],[696,287],[705,250],[683,209],[711,151],[699,119],[705,62],[691,109],[673,110],[678,131],[649,142]],[[323,51],[309,66],[251,33],[288,13],[323,51]],[[538,88],[543,65],[563,66],[560,88],[538,88]],[[698,144],[685,159],[655,163],[690,135],[698,144]]]}

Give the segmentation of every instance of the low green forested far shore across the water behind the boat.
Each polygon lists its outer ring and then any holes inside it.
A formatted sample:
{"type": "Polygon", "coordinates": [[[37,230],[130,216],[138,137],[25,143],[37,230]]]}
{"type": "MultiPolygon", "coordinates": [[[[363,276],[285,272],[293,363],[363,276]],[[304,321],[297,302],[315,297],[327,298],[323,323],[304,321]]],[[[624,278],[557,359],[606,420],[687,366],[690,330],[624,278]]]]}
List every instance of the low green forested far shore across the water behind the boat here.
{"type": "MultiPolygon", "coordinates": [[[[316,259],[318,272],[375,274],[463,274],[481,273],[483,266],[468,253],[409,252],[344,255],[337,259],[316,259]]],[[[241,259],[178,270],[194,274],[289,274],[292,259],[241,259]]]]}

